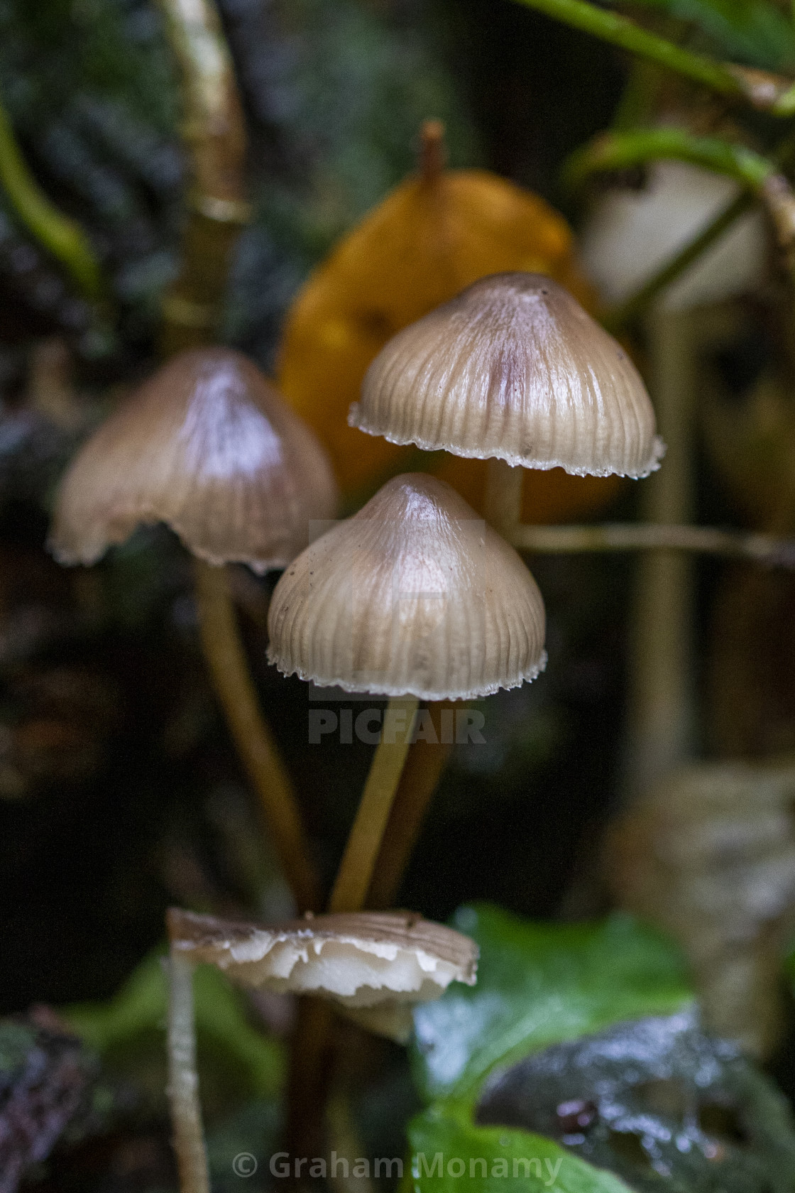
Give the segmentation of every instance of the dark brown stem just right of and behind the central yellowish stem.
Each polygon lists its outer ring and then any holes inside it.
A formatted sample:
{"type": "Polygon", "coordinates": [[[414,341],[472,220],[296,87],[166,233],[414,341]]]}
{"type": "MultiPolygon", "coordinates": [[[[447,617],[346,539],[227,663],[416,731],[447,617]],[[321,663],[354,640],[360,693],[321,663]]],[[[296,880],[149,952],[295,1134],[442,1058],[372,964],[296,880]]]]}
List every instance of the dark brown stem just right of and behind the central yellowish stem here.
{"type": "Polygon", "coordinates": [[[379,910],[395,905],[403,872],[420,836],[428,805],[439,785],[453,743],[452,734],[443,731],[442,712],[452,715],[461,701],[434,701],[428,705],[436,741],[416,741],[409,749],[392,811],[375,863],[367,907],[379,910]]]}

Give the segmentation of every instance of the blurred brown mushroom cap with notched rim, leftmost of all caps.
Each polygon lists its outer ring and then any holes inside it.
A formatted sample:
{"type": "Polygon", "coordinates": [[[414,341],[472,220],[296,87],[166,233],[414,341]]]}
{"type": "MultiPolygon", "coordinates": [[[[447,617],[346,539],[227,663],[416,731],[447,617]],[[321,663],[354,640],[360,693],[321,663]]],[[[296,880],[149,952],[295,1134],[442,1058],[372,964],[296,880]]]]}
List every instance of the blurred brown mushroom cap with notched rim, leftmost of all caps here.
{"type": "Polygon", "coordinates": [[[166,523],[210,563],[286,567],[310,519],[334,517],[324,449],[260,370],[229,348],[169,360],[94,432],[58,489],[50,548],[94,563],[166,523]]]}

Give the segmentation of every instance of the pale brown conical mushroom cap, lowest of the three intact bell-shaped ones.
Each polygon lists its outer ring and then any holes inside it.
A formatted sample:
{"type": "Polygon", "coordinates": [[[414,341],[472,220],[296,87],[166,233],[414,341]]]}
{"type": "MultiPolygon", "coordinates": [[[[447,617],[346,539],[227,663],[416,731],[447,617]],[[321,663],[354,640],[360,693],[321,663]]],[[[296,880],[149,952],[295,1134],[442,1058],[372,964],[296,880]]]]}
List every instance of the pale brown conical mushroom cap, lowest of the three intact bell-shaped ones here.
{"type": "Polygon", "coordinates": [[[293,561],[268,659],[348,692],[467,699],[535,679],[544,601],[518,555],[449,484],[397,476],[293,561]]]}

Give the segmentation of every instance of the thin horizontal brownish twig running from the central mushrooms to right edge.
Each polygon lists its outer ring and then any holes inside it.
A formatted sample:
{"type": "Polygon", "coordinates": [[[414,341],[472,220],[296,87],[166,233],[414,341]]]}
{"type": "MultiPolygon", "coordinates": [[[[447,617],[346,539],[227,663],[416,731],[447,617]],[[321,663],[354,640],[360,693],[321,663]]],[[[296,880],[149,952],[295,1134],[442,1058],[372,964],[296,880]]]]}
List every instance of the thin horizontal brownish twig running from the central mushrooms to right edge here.
{"type": "Polygon", "coordinates": [[[505,534],[518,551],[567,555],[580,551],[692,551],[795,568],[795,539],[662,523],[603,523],[595,526],[517,525],[505,534]]]}

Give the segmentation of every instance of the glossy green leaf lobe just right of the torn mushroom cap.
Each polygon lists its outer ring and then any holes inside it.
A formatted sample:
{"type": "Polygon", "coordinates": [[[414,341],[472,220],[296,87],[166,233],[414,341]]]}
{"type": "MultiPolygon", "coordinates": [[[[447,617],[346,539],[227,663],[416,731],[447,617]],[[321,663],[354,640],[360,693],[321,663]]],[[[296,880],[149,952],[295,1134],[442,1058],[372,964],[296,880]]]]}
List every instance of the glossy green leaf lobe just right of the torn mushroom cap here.
{"type": "Polygon", "coordinates": [[[415,1012],[416,1077],[428,1101],[471,1095],[499,1062],[692,1000],[678,951],[628,915],[532,923],[482,904],[460,908],[453,926],[480,946],[478,982],[455,983],[415,1012]]]}

